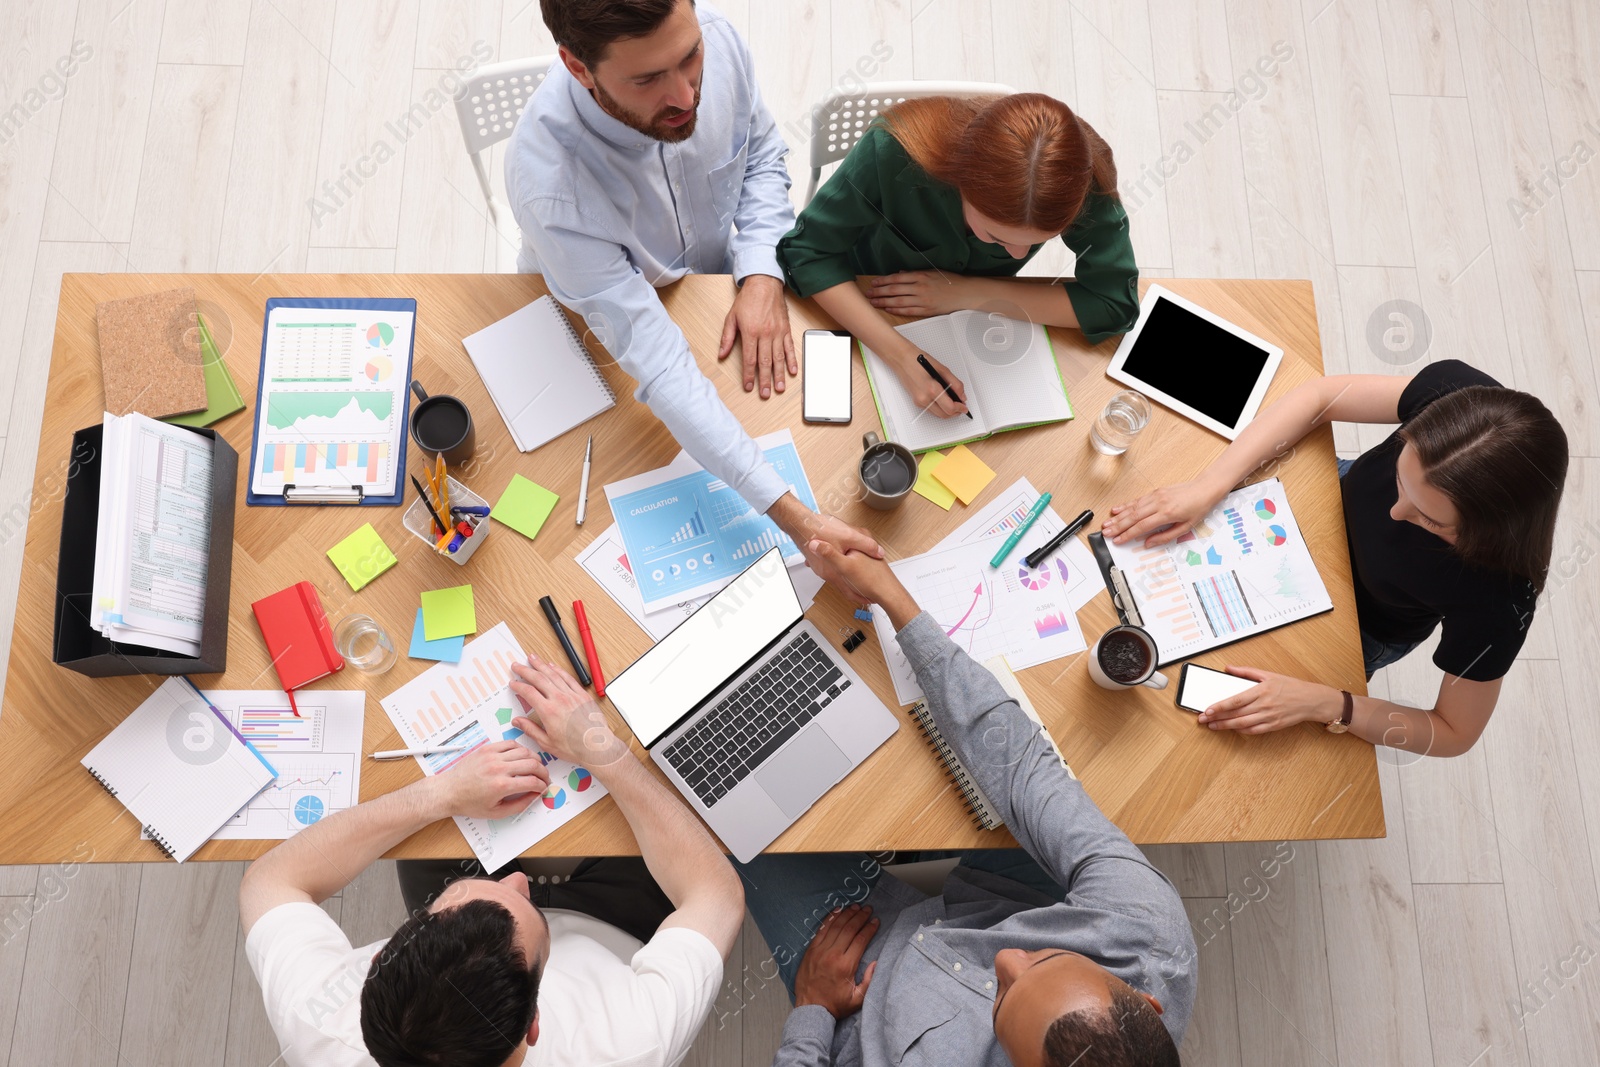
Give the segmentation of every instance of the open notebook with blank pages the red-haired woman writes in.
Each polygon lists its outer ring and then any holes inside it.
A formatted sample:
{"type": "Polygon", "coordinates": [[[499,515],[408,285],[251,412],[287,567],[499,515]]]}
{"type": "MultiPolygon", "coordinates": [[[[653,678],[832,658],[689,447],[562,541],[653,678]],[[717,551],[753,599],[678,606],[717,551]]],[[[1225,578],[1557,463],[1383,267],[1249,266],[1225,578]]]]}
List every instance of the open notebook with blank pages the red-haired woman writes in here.
{"type": "Polygon", "coordinates": [[[888,440],[923,453],[976,442],[1000,430],[1072,418],[1067,384],[1061,379],[1043,326],[994,312],[955,312],[896,330],[962,379],[973,418],[942,419],[925,411],[890,365],[861,346],[867,382],[888,440]]]}

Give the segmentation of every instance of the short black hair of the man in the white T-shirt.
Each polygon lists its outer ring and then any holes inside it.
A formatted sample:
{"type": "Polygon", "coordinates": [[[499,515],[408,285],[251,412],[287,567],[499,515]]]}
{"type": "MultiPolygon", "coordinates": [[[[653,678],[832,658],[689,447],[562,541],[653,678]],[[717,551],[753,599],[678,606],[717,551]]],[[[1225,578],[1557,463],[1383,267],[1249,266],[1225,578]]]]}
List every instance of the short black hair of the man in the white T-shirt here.
{"type": "Polygon", "coordinates": [[[499,1067],[528,1037],[538,961],[494,901],[413,915],[362,985],[362,1040],[382,1067],[499,1067]]]}

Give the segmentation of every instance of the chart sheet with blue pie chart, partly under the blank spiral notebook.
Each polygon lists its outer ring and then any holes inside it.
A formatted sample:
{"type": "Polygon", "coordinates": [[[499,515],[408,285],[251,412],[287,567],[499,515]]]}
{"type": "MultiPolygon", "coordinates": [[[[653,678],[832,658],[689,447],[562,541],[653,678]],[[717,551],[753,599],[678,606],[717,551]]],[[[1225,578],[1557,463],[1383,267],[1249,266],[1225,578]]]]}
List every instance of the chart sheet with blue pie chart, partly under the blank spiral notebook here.
{"type": "Polygon", "coordinates": [[[304,691],[296,701],[299,718],[282,689],[206,689],[206,699],[278,773],[222,824],[214,840],[283,840],[355,806],[362,795],[365,691],[304,691]]]}

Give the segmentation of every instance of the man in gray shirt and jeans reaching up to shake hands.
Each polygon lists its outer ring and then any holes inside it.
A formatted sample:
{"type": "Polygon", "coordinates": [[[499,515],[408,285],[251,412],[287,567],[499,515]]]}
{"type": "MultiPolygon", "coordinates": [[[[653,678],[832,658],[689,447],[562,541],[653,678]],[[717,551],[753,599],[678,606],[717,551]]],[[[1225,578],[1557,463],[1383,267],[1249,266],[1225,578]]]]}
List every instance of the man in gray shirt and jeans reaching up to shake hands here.
{"type": "Polygon", "coordinates": [[[888,613],[939,731],[1024,851],[963,854],[936,897],[856,854],[741,867],[795,1001],[774,1064],[1176,1064],[1197,969],[1178,891],[885,561],[811,550],[888,613]]]}

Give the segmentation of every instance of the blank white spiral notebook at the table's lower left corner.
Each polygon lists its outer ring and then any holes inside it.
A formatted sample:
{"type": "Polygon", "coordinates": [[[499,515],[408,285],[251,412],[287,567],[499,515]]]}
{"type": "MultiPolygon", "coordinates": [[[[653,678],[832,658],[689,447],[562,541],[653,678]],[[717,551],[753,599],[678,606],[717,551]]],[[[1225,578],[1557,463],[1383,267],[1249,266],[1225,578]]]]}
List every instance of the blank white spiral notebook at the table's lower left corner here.
{"type": "Polygon", "coordinates": [[[83,766],[184,862],[278,774],[184,678],[168,678],[83,766]]]}

